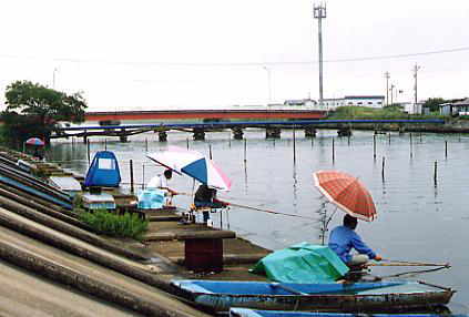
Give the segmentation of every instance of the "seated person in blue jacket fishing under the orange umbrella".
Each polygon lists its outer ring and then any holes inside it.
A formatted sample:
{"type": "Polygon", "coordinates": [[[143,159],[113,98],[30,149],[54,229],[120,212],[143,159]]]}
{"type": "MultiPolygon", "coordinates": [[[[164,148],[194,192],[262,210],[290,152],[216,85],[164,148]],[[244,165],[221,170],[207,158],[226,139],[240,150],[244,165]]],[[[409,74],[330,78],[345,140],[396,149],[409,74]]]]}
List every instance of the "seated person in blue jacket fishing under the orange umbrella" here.
{"type": "Polygon", "coordinates": [[[358,221],[350,215],[344,216],[344,225],[335,227],[329,235],[329,248],[334,250],[347,266],[360,266],[368,259],[381,260],[383,257],[369,248],[355,232],[358,221]],[[355,248],[358,254],[351,255],[355,248]]]}

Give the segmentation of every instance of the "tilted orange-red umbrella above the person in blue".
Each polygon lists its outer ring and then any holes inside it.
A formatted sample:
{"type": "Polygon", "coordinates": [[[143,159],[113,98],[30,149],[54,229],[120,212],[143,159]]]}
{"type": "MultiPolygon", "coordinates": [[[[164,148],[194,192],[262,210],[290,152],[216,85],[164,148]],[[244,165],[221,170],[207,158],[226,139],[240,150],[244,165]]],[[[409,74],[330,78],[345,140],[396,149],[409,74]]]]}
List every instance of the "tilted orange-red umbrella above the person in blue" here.
{"type": "Polygon", "coordinates": [[[336,206],[363,221],[376,218],[375,203],[368,190],[347,173],[318,171],[313,173],[315,186],[336,206]]]}

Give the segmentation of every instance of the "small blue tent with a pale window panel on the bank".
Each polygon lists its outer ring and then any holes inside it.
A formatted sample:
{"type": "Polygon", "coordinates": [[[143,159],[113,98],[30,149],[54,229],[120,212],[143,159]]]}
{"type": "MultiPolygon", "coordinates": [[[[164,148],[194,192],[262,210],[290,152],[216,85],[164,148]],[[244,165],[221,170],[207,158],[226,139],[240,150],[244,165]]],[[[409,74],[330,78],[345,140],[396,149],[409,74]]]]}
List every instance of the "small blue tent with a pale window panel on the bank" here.
{"type": "Polygon", "coordinates": [[[121,183],[118,158],[110,151],[100,151],[93,157],[84,180],[84,186],[118,187],[121,183]]]}

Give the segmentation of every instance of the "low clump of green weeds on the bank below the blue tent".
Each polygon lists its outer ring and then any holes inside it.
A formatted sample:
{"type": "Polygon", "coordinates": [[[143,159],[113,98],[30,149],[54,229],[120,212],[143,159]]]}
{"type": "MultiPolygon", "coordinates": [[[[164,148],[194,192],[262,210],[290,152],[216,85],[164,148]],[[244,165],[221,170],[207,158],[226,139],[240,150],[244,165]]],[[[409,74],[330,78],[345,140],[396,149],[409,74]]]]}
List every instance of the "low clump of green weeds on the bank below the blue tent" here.
{"type": "Polygon", "coordinates": [[[118,215],[105,209],[81,211],[79,218],[99,234],[113,237],[130,237],[139,241],[142,239],[149,227],[149,221],[140,218],[136,214],[125,213],[118,215]]]}

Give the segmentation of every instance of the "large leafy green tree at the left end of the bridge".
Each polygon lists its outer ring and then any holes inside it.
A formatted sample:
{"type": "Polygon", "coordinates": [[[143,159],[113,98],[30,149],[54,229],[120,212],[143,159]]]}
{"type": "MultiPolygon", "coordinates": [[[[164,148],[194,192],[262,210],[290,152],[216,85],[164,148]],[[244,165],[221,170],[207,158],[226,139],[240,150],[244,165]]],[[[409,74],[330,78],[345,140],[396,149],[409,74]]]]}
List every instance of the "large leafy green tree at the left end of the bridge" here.
{"type": "Polygon", "coordinates": [[[2,113],[4,136],[21,144],[31,136],[45,143],[58,121],[83,122],[86,102],[81,93],[67,94],[39,83],[16,81],[7,86],[2,113]]]}

